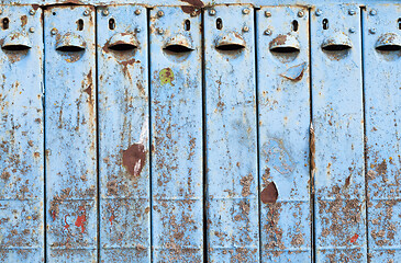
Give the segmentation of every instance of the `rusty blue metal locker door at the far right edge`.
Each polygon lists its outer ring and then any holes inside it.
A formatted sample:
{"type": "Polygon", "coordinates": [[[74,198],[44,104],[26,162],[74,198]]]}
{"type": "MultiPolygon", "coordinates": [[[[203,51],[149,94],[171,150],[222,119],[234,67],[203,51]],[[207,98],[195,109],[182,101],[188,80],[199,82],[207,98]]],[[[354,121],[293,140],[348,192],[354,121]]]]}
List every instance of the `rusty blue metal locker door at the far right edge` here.
{"type": "Polygon", "coordinates": [[[401,259],[401,5],[364,12],[368,244],[371,262],[401,259]]]}

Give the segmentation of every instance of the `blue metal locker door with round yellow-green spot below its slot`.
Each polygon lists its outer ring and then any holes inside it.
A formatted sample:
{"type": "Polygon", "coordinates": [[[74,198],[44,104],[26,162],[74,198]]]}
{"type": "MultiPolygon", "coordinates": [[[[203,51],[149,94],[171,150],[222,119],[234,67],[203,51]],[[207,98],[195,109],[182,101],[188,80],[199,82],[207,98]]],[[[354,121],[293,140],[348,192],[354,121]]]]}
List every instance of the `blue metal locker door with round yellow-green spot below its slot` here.
{"type": "Polygon", "coordinates": [[[155,262],[203,261],[201,15],[193,14],[151,11],[155,262]]]}

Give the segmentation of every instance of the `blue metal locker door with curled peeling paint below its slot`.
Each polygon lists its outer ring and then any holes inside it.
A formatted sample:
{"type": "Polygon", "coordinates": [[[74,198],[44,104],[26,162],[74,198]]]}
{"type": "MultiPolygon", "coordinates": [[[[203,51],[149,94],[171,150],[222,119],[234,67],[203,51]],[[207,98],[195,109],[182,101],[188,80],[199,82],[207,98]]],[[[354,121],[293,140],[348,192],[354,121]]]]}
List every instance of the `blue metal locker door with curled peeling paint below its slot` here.
{"type": "Polygon", "coordinates": [[[263,262],[311,262],[309,12],[257,12],[263,262]]]}

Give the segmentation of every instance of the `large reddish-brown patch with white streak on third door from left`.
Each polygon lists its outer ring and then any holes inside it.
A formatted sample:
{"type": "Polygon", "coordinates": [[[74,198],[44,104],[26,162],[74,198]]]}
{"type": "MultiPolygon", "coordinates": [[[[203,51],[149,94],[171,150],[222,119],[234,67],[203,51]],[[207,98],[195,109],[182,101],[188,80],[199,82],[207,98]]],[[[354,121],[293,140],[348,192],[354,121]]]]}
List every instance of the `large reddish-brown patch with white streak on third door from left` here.
{"type": "Polygon", "coordinates": [[[134,144],[123,151],[123,165],[127,172],[137,178],[145,165],[146,151],[142,144],[134,144]]]}

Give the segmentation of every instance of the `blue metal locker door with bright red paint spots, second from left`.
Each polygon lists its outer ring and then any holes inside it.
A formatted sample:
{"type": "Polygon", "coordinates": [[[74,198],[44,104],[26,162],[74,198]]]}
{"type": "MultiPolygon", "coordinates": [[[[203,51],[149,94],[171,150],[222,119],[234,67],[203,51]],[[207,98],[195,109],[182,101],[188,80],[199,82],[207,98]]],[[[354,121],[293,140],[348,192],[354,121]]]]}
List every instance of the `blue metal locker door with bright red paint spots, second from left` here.
{"type": "Polygon", "coordinates": [[[44,16],[49,262],[97,258],[93,21],[85,5],[49,8],[44,16]]]}

